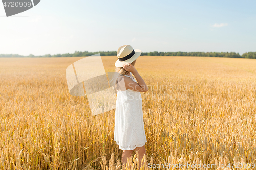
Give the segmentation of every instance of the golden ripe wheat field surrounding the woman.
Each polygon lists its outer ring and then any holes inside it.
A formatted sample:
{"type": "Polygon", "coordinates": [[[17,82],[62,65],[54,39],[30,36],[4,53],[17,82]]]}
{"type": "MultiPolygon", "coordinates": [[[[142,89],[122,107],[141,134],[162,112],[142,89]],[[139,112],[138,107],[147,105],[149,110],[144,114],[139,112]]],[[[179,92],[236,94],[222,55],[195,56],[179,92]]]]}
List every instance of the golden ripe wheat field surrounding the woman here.
{"type": "MultiPolygon", "coordinates": [[[[92,116],[86,97],[69,94],[65,70],[82,58],[0,58],[1,169],[124,169],[115,109],[92,116]]],[[[102,56],[106,72],[116,60],[102,56]]],[[[252,169],[255,66],[255,59],[140,56],[135,68],[150,89],[141,93],[141,169],[252,169]]],[[[128,165],[138,169],[135,153],[128,165]]]]}

